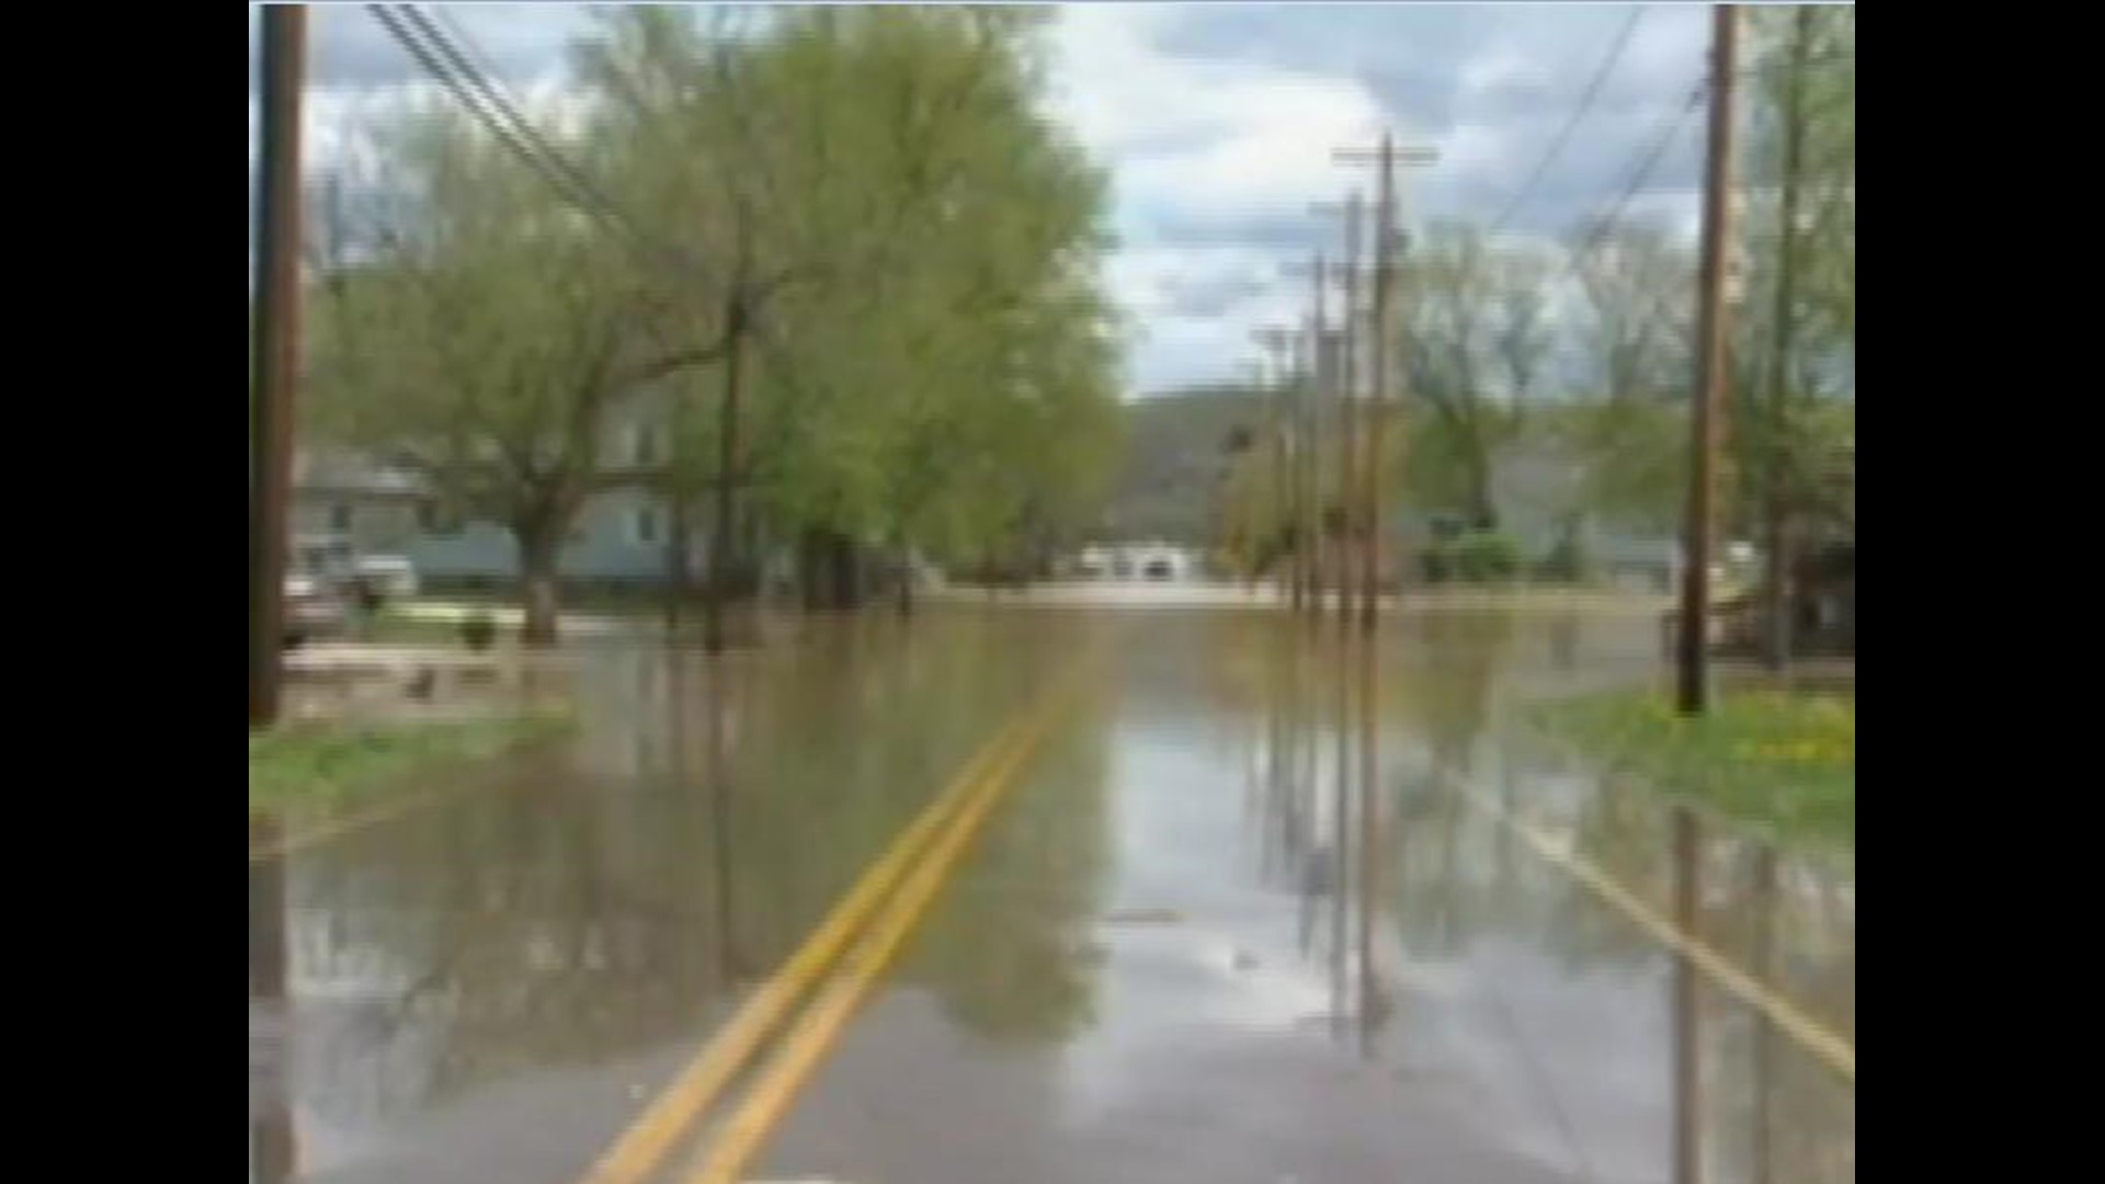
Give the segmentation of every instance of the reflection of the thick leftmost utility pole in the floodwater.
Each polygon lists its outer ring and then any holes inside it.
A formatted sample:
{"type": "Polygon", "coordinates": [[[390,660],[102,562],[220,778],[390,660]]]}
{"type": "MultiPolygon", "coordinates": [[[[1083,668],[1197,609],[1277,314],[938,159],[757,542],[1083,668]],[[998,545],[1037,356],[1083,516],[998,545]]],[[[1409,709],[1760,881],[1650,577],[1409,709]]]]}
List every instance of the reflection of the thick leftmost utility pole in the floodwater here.
{"type": "MultiPolygon", "coordinates": [[[[282,841],[276,820],[248,822],[250,849],[282,841]]],[[[255,1184],[282,1184],[299,1169],[288,1104],[290,1005],[286,1001],[284,860],[248,864],[248,1169],[255,1184]],[[261,1047],[257,1047],[261,1043],[261,1047]]]]}

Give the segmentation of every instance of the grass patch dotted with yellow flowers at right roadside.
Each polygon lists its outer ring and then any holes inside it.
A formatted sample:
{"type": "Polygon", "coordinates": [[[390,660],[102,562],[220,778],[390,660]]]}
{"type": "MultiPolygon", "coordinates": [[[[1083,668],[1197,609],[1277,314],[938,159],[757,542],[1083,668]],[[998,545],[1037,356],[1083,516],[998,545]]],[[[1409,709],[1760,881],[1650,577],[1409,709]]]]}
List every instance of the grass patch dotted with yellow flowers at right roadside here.
{"type": "Polygon", "coordinates": [[[1663,693],[1566,699],[1539,723],[1581,752],[1787,841],[1857,845],[1857,699],[1728,691],[1688,721],[1663,693]]]}

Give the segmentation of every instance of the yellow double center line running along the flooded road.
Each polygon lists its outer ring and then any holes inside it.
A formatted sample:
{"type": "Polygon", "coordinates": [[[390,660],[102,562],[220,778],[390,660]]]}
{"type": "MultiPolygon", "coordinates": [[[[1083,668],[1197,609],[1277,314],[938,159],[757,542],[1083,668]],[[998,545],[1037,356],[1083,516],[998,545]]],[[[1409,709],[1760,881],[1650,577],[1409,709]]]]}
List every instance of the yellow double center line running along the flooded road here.
{"type": "Polygon", "coordinates": [[[857,1003],[890,963],[914,923],[928,910],[1010,777],[1050,731],[1059,710],[1071,702],[1078,676],[1080,670],[1061,678],[1036,710],[998,731],[958,769],[937,801],[893,841],[848,895],[840,897],[804,946],[745,1001],[695,1062],[600,1157],[583,1184],[638,1184],[657,1169],[695,1119],[716,1104],[794,1009],[813,994],[821,978],[855,948],[844,975],[802,1013],[785,1037],[781,1053],[766,1066],[745,1104],[724,1123],[695,1176],[695,1180],[735,1180],[840,1037],[857,1003]]]}

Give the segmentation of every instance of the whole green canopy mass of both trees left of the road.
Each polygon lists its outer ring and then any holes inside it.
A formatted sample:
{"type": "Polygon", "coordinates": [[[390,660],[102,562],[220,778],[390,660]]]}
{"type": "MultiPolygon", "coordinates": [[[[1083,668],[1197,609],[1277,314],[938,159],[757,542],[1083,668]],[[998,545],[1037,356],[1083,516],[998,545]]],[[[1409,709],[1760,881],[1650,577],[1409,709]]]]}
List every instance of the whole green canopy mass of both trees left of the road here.
{"type": "Polygon", "coordinates": [[[465,516],[560,539],[583,499],[722,472],[747,512],[981,554],[1092,520],[1122,331],[1101,173],[1040,114],[1044,21],[973,8],[621,8],[541,133],[621,211],[592,225],[459,112],[381,129],[358,265],[324,278],[316,421],[465,516]],[[659,472],[608,472],[625,400],[659,472]]]}

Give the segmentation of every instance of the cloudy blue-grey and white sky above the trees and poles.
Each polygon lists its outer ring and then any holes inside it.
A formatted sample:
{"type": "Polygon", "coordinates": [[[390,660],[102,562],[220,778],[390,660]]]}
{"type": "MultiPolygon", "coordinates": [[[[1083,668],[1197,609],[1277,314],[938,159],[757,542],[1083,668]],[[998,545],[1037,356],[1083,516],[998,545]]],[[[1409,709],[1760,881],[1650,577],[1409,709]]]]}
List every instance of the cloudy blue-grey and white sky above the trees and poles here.
{"type": "MultiPolygon", "coordinates": [[[[505,82],[560,101],[577,4],[450,4],[505,82]]],[[[1402,173],[1406,225],[1490,223],[1526,192],[1503,234],[1562,238],[1615,204],[1673,129],[1623,206],[1695,232],[1701,120],[1682,118],[1703,76],[1709,15],[1648,4],[1612,72],[1545,156],[1636,8],[1627,4],[1063,4],[1050,29],[1048,110],[1111,179],[1118,249],[1107,284],[1130,322],[1135,394],[1240,377],[1252,333],[1303,316],[1309,284],[1286,272],[1339,228],[1311,211],[1364,166],[1332,147],[1383,129],[1438,152],[1402,173]],[[1528,179],[1539,179],[1528,185],[1528,179]]],[[[309,154],[343,152],[341,116],[419,86],[417,65],[358,4],[309,19],[309,154]]],[[[248,152],[257,152],[250,13],[248,152]]]]}

